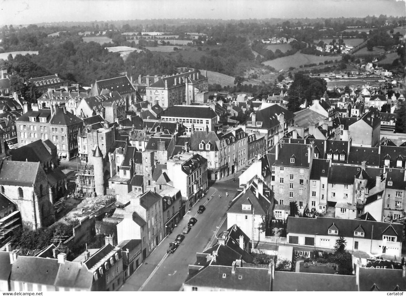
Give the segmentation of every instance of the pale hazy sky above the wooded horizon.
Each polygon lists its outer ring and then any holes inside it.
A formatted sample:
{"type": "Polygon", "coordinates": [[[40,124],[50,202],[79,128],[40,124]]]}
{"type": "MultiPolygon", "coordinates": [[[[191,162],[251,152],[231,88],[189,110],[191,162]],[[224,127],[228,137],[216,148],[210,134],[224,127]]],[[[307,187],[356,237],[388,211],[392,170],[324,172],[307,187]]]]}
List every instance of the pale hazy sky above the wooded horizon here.
{"type": "Polygon", "coordinates": [[[405,16],[404,0],[0,0],[0,25],[125,19],[405,16]]]}

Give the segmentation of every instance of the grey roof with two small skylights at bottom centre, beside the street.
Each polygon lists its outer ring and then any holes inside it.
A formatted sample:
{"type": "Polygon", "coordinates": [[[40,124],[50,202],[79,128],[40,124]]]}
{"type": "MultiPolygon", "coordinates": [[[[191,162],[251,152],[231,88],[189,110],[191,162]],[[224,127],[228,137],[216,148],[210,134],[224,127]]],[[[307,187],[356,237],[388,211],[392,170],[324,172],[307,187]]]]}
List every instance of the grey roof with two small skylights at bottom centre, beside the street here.
{"type": "Polygon", "coordinates": [[[270,291],[270,278],[268,268],[236,267],[233,274],[231,266],[209,265],[185,284],[242,291],[270,291]]]}

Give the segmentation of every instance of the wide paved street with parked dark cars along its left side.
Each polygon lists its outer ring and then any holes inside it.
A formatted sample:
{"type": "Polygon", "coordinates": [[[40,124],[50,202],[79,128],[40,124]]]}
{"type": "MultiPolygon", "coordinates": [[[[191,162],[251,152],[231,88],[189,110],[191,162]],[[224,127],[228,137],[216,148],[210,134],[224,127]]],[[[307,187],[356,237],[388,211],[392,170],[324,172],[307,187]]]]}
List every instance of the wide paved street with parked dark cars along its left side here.
{"type": "Polygon", "coordinates": [[[233,181],[214,184],[206,195],[210,196],[215,192],[214,196],[209,200],[204,197],[185,215],[173,233],[147,257],[120,291],[179,291],[188,276],[188,265],[196,261],[196,253],[216,242],[214,234],[226,230],[225,212],[229,201],[237,192],[237,187],[238,182],[233,181]],[[226,192],[229,193],[228,198],[225,196],[226,192]],[[206,210],[203,214],[197,214],[201,204],[205,204],[206,210]],[[197,223],[185,234],[184,241],[175,253],[167,254],[168,243],[173,242],[177,234],[181,233],[190,217],[196,217],[197,223]],[[222,222],[224,223],[220,228],[222,222]]]}

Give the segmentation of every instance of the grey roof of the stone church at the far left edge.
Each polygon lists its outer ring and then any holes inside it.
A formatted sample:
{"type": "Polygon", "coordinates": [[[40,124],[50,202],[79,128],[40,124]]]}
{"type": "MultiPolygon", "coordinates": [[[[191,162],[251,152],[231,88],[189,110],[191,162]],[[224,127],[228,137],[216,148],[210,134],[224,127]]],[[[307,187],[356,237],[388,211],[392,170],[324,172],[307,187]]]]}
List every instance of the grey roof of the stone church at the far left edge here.
{"type": "Polygon", "coordinates": [[[0,170],[0,184],[32,187],[41,167],[37,162],[5,160],[0,170]]]}

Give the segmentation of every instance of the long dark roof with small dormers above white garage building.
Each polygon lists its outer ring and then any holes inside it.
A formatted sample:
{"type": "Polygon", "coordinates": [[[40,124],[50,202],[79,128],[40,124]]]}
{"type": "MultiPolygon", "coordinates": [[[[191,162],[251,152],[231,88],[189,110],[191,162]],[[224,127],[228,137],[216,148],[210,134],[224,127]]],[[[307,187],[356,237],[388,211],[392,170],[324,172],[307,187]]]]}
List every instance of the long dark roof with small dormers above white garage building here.
{"type": "MultiPolygon", "coordinates": [[[[328,229],[335,225],[338,229],[338,236],[354,237],[354,230],[361,224],[361,227],[365,230],[364,238],[374,240],[382,240],[383,234],[394,233],[397,236],[397,241],[401,242],[403,238],[403,225],[399,223],[385,223],[367,220],[357,219],[339,219],[328,217],[317,218],[300,218],[289,217],[287,220],[287,233],[288,234],[311,234],[311,235],[324,235],[328,234],[328,229]],[[374,231],[372,233],[372,226],[374,231]],[[394,230],[394,231],[393,231],[394,230]]],[[[337,236],[335,235],[335,236],[337,236]]]]}

